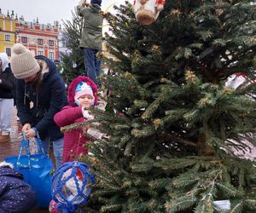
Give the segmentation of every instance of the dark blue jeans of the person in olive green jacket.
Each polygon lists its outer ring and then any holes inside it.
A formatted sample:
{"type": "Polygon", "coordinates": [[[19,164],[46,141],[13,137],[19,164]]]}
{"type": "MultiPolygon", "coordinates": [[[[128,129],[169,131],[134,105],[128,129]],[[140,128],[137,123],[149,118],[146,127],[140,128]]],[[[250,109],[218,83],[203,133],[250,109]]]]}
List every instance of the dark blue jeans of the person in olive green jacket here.
{"type": "Polygon", "coordinates": [[[97,85],[99,85],[99,83],[96,78],[99,77],[101,73],[102,64],[101,60],[96,57],[99,51],[98,49],[84,48],[84,66],[87,71],[87,76],[97,85]]]}

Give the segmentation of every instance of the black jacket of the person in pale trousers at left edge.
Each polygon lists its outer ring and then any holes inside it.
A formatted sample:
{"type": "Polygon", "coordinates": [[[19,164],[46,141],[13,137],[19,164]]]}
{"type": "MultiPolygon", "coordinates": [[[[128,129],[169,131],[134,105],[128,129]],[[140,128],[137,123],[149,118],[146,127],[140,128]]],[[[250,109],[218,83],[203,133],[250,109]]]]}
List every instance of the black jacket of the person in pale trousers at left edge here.
{"type": "Polygon", "coordinates": [[[2,80],[2,83],[0,83],[0,98],[15,98],[16,79],[9,67],[4,72],[0,72],[0,79],[2,80]]]}

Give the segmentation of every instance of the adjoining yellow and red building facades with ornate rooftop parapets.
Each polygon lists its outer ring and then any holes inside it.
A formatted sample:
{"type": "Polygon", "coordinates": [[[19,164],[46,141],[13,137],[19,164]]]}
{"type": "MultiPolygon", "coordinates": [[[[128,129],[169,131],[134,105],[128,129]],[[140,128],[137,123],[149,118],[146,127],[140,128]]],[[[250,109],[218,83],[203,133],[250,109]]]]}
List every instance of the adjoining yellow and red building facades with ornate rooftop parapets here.
{"type": "Polygon", "coordinates": [[[59,60],[59,23],[39,24],[38,19],[28,22],[17,14],[2,14],[0,9],[0,52],[11,55],[15,43],[22,43],[34,55],[44,55],[50,60],[59,60]]]}

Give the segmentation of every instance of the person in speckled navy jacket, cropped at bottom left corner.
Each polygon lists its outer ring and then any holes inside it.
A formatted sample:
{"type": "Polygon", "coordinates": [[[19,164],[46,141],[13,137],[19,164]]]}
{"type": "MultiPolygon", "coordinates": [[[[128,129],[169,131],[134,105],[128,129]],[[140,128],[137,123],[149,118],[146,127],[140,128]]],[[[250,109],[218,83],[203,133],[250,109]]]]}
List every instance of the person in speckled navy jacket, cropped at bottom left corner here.
{"type": "Polygon", "coordinates": [[[0,213],[27,213],[35,203],[35,193],[13,168],[13,164],[0,163],[0,213]]]}

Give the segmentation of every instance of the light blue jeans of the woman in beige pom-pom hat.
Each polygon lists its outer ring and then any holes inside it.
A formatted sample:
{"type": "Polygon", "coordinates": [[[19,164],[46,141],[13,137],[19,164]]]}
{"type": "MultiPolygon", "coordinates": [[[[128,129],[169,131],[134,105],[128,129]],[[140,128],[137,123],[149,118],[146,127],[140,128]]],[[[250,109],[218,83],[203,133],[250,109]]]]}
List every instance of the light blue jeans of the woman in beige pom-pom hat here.
{"type": "MultiPolygon", "coordinates": [[[[46,136],[43,141],[43,147],[46,154],[49,154],[49,142],[50,138],[49,136],[46,136]]],[[[54,150],[54,156],[55,156],[55,163],[56,163],[56,169],[58,169],[62,164],[62,153],[63,153],[63,138],[59,138],[55,141],[52,141],[53,143],[53,150],[54,150]]],[[[38,150],[40,152],[40,150],[38,150]]]]}

